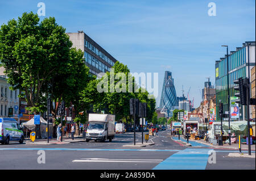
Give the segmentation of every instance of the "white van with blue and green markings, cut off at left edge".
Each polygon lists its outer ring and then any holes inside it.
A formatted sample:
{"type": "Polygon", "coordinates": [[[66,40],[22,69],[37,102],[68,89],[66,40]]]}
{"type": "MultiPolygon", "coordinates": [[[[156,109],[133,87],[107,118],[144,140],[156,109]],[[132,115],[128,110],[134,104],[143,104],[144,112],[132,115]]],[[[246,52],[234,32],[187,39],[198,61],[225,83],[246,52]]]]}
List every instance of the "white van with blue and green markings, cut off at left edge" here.
{"type": "Polygon", "coordinates": [[[0,142],[8,145],[9,141],[19,141],[22,144],[24,141],[23,131],[15,119],[0,117],[0,142]]]}

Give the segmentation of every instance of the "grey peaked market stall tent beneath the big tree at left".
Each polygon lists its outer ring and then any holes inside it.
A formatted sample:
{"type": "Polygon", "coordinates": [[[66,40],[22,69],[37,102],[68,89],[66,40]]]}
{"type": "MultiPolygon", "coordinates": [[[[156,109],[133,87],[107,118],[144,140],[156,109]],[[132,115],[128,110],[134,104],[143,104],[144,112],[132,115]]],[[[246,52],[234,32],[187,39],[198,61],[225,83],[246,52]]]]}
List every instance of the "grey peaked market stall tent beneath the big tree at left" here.
{"type": "MultiPolygon", "coordinates": [[[[29,129],[31,132],[35,131],[36,125],[34,124],[34,117],[27,121],[27,123],[23,123],[23,127],[26,127],[29,129]]],[[[43,119],[43,117],[40,117],[40,131],[41,131],[41,137],[42,139],[47,138],[47,121],[43,119]]],[[[49,123],[49,137],[52,137],[53,133],[53,126],[52,123],[49,123]]]]}

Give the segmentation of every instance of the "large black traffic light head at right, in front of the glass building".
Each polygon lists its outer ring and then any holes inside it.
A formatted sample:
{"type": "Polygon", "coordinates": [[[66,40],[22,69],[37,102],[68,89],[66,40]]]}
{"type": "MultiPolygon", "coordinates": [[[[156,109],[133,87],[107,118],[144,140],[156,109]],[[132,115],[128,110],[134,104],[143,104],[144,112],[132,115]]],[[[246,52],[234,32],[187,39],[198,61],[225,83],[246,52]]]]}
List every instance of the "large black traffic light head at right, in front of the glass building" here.
{"type": "Polygon", "coordinates": [[[247,79],[242,77],[234,81],[235,84],[238,84],[238,86],[234,87],[234,90],[239,91],[234,95],[240,97],[240,99],[236,100],[236,103],[240,103],[242,105],[246,105],[246,81],[247,79]]]}

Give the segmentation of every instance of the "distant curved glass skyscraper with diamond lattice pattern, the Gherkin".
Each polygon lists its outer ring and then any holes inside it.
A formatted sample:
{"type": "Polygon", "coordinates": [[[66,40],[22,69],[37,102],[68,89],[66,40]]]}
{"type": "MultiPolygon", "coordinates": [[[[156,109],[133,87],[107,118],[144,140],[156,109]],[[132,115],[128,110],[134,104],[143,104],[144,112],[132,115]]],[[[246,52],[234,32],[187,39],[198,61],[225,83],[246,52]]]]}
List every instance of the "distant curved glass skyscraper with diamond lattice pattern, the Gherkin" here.
{"type": "Polygon", "coordinates": [[[160,100],[160,108],[167,111],[168,117],[170,116],[173,106],[177,106],[177,96],[174,87],[174,79],[172,78],[171,71],[165,71],[162,95],[160,100]]]}

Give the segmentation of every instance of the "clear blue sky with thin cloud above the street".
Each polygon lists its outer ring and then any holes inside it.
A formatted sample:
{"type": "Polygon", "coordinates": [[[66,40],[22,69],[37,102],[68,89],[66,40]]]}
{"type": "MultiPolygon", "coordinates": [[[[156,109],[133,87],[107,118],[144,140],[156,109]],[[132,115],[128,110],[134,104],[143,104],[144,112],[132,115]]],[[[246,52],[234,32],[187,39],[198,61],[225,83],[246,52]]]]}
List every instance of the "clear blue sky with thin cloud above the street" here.
{"type": "Polygon", "coordinates": [[[164,71],[172,71],[177,96],[201,102],[200,88],[206,77],[214,85],[214,64],[226,49],[255,41],[255,1],[3,1],[0,24],[23,12],[37,12],[46,5],[67,32],[83,30],[131,72],[159,73],[159,96],[164,71]],[[208,3],[216,3],[216,16],[208,15],[208,3]]]}

